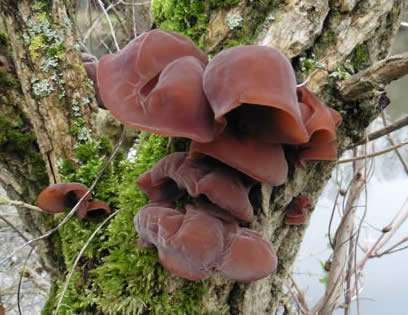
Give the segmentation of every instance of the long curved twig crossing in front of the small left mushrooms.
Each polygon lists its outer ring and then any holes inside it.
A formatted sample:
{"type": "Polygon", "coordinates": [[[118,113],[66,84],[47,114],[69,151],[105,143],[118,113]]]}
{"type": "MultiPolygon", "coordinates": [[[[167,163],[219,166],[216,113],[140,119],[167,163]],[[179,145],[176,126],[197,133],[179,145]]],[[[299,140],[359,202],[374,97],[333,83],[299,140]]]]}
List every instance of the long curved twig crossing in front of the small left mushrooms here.
{"type": "Polygon", "coordinates": [[[43,235],[33,238],[32,240],[24,243],[23,245],[19,246],[18,248],[16,248],[15,250],[13,250],[13,252],[8,255],[7,257],[3,258],[2,260],[0,260],[0,264],[2,264],[3,262],[9,260],[11,257],[14,256],[14,254],[16,252],[18,252],[19,250],[21,250],[22,248],[26,247],[27,245],[31,245],[34,242],[37,242],[39,240],[42,240],[44,238],[47,238],[48,236],[50,236],[51,234],[53,234],[54,232],[56,232],[60,227],[62,227],[65,223],[67,223],[71,217],[75,214],[75,212],[78,210],[78,208],[80,207],[81,203],[88,198],[89,194],[91,193],[91,191],[95,188],[95,186],[98,184],[99,179],[102,177],[105,169],[108,167],[108,165],[110,164],[110,162],[115,158],[116,153],[118,152],[120,146],[122,145],[123,139],[125,138],[125,133],[126,133],[126,127],[123,127],[122,133],[120,135],[120,138],[118,140],[118,142],[116,143],[116,146],[114,147],[111,155],[109,156],[109,158],[105,161],[105,163],[103,164],[101,170],[99,171],[99,173],[96,175],[95,180],[93,181],[91,187],[89,187],[88,191],[82,196],[81,199],[79,199],[79,201],[76,203],[76,205],[72,208],[72,210],[67,214],[67,216],[55,227],[52,228],[51,230],[49,230],[48,232],[44,233],[43,235]]]}

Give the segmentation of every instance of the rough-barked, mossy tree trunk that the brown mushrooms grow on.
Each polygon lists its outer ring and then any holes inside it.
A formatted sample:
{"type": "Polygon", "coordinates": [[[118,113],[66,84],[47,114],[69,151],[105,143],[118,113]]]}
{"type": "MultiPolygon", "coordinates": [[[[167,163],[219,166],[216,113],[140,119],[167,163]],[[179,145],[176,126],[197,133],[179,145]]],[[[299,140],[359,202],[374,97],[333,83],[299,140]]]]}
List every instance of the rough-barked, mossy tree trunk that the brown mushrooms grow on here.
{"type": "MultiPolygon", "coordinates": [[[[7,91],[1,90],[0,111],[6,113],[1,117],[8,119],[7,130],[11,128],[19,137],[30,134],[24,146],[42,158],[40,164],[51,183],[64,180],[89,185],[102,165],[100,155],[110,149],[94,132],[93,89],[76,50],[75,28],[67,8],[69,1],[26,0],[15,4],[0,0],[19,82],[7,91]],[[12,118],[16,115],[21,122],[12,118]]],[[[361,140],[365,128],[387,105],[382,88],[408,72],[387,71],[388,62],[383,62],[384,66],[377,64],[389,54],[404,9],[406,3],[402,0],[152,3],[158,27],[190,36],[210,54],[253,43],[281,49],[292,58],[298,82],[309,77],[307,86],[342,114],[340,153],[361,140]],[[375,76],[383,70],[386,75],[375,76]],[[356,80],[362,73],[364,77],[356,80]],[[366,82],[363,87],[362,80],[366,82]]],[[[407,59],[398,59],[404,69],[407,59]]],[[[4,82],[8,81],[1,80],[0,88],[4,82]]],[[[3,118],[0,121],[3,126],[3,118]]],[[[11,187],[8,191],[13,191],[13,198],[32,201],[45,184],[44,173],[33,171],[37,164],[21,148],[5,150],[1,140],[5,129],[0,132],[1,184],[11,187]],[[42,180],[36,181],[36,176],[42,180]]],[[[17,141],[6,132],[7,145],[17,141]]],[[[285,185],[259,185],[251,192],[256,213],[251,228],[274,244],[279,258],[276,273],[250,284],[219,276],[192,282],[164,271],[154,251],[136,248],[132,218],[147,200],[134,182],[167,153],[166,139],[144,134],[135,161],[118,163],[118,157],[104,174],[95,196],[107,201],[118,214],[97,234],[75,267],[61,310],[81,314],[275,314],[307,228],[285,225],[285,209],[299,194],[309,196],[314,205],[335,163],[310,162],[305,168],[292,164],[285,185]]],[[[59,220],[56,218],[56,222],[59,220]]],[[[31,231],[33,222],[40,226],[34,235],[49,228],[31,214],[25,222],[31,231]]],[[[53,253],[64,258],[67,270],[73,267],[97,223],[74,218],[59,230],[61,246],[53,253]]],[[[46,246],[53,244],[48,242],[46,246]]],[[[54,273],[59,270],[62,276],[64,264],[59,264],[59,269],[54,266],[54,273]]],[[[55,284],[45,314],[55,309],[62,292],[63,282],[55,284]]]]}

